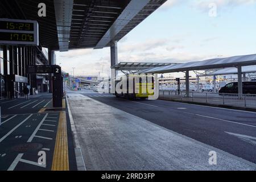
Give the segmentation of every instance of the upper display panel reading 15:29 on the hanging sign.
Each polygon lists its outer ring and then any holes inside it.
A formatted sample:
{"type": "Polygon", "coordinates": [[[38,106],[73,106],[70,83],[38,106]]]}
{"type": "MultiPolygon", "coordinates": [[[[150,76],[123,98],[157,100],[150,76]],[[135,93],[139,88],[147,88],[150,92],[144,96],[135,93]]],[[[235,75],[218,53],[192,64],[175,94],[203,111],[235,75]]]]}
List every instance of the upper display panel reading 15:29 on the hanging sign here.
{"type": "Polygon", "coordinates": [[[0,21],[0,29],[34,31],[34,23],[0,21]]]}

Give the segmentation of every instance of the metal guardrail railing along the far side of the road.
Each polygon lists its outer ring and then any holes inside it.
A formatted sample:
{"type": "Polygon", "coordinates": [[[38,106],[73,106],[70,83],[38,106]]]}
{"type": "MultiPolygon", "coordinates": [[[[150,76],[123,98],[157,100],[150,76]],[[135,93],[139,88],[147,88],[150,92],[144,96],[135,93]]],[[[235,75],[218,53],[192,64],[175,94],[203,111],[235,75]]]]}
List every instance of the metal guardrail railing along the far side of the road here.
{"type": "Polygon", "coordinates": [[[201,93],[160,90],[159,98],[167,100],[203,102],[207,104],[256,107],[256,94],[201,93]]]}

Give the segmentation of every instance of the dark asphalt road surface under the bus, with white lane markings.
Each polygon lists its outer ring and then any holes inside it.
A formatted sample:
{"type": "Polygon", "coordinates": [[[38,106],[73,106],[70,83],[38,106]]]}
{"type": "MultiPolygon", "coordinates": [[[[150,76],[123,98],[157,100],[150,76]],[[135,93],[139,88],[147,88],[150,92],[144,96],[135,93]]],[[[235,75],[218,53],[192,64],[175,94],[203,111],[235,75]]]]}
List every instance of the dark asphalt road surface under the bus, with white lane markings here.
{"type": "Polygon", "coordinates": [[[256,163],[256,113],[161,100],[129,101],[91,90],[78,93],[256,163]]]}

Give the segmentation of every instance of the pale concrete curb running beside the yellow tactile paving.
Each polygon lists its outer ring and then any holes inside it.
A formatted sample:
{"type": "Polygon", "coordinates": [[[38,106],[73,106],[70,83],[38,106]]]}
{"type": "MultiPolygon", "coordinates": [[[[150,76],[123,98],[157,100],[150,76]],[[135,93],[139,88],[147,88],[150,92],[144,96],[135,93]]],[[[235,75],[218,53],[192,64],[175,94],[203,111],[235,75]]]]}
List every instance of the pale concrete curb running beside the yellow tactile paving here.
{"type": "Polygon", "coordinates": [[[86,171],[84,158],[82,157],[82,151],[81,151],[79,139],[77,137],[76,126],[75,126],[75,123],[73,121],[73,117],[72,117],[72,114],[71,114],[71,109],[69,107],[67,97],[66,97],[66,101],[67,101],[67,107],[68,107],[68,115],[69,115],[69,119],[70,119],[70,122],[71,122],[71,130],[72,130],[72,135],[73,135],[73,141],[74,141],[74,144],[75,144],[75,155],[76,155],[77,171],[86,171]]]}

